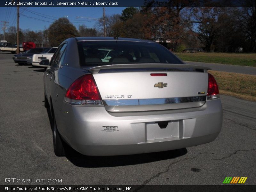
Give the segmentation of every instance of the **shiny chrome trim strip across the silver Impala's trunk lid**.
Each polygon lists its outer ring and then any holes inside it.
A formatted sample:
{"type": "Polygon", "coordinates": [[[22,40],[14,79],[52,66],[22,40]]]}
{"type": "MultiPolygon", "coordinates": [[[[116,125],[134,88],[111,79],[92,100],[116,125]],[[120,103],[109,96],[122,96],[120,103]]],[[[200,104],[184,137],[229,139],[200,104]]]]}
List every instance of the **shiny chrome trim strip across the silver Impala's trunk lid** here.
{"type": "Polygon", "coordinates": [[[206,95],[194,97],[173,97],[173,98],[158,98],[158,99],[117,99],[117,100],[102,100],[105,106],[134,106],[134,105],[160,105],[174,103],[188,103],[205,101],[206,95]]]}

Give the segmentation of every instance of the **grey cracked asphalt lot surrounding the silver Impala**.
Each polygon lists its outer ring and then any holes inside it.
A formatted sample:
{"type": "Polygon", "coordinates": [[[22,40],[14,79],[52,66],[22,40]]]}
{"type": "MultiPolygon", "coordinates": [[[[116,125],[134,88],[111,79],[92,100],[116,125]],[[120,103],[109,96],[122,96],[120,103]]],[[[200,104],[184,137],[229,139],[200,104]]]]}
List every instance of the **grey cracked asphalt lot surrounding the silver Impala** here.
{"type": "Polygon", "coordinates": [[[57,157],[43,72],[0,53],[1,185],[222,185],[225,177],[248,177],[244,185],[256,185],[256,102],[221,95],[222,130],[208,144],[130,156],[57,157]],[[62,182],[6,183],[9,177],[62,182]]]}

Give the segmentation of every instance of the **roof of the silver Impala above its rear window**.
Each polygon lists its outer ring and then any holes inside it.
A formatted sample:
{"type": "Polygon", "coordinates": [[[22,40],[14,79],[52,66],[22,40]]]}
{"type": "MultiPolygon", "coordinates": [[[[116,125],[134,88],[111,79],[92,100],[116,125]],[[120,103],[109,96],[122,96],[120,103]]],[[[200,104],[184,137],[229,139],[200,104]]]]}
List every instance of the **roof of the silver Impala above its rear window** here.
{"type": "Polygon", "coordinates": [[[76,41],[137,41],[137,42],[147,42],[147,43],[155,43],[149,40],[142,40],[142,39],[133,39],[133,38],[122,38],[118,37],[76,37],[76,41]]]}

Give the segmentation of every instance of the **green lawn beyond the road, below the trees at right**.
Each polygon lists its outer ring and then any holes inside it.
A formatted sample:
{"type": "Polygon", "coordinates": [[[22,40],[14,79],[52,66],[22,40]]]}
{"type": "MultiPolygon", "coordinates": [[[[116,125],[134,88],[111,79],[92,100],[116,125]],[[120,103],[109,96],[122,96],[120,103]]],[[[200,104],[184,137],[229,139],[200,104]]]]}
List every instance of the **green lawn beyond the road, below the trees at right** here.
{"type": "Polygon", "coordinates": [[[183,61],[195,61],[205,63],[221,63],[230,65],[242,65],[256,67],[256,53],[176,53],[183,61]]]}

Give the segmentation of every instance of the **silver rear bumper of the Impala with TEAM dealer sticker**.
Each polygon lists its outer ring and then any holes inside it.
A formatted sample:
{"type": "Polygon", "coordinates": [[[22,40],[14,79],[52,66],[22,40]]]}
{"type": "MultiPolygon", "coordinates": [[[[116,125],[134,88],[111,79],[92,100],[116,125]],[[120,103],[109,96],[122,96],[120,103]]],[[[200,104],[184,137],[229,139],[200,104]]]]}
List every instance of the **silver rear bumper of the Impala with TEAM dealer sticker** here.
{"type": "Polygon", "coordinates": [[[117,115],[104,107],[63,104],[56,122],[63,139],[91,156],[149,153],[213,141],[222,125],[220,99],[199,108],[117,115]],[[193,111],[194,110],[194,111],[193,111]],[[152,114],[153,113],[153,114],[152,114]],[[160,128],[159,122],[169,122],[160,128]]]}

